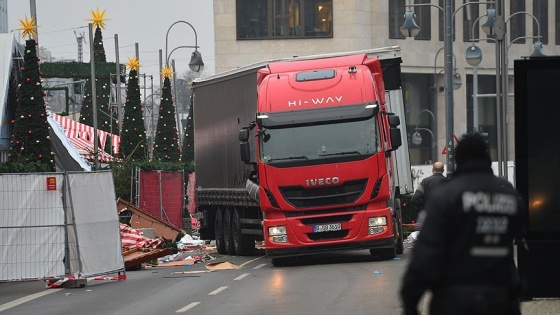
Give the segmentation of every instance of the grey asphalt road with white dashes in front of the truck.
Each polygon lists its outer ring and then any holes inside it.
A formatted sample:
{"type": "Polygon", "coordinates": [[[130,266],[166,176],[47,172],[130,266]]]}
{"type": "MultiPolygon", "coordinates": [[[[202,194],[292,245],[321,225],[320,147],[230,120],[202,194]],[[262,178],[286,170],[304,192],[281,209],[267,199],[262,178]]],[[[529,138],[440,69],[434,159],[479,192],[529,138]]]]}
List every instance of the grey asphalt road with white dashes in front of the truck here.
{"type": "MultiPolygon", "coordinates": [[[[238,269],[204,264],[127,271],[122,281],[46,289],[42,281],[0,284],[1,314],[400,314],[408,257],[374,261],[369,251],[301,257],[284,267],[265,256],[220,256],[238,269]]],[[[227,265],[227,264],[224,264],[227,265]]]]}

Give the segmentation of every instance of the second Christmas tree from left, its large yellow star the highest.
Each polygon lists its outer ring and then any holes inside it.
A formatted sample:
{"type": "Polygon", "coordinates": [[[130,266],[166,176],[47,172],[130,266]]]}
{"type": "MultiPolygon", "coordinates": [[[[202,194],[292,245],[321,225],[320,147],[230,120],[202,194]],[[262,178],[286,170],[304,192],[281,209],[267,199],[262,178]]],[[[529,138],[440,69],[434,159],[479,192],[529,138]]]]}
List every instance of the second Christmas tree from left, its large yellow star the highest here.
{"type": "MultiPolygon", "coordinates": [[[[106,63],[105,48],[103,46],[103,34],[101,29],[105,28],[105,10],[96,12],[91,11],[90,19],[95,27],[95,36],[93,39],[93,55],[95,64],[106,63]]],[[[95,79],[96,107],[97,107],[97,128],[113,134],[119,133],[118,118],[113,112],[111,103],[109,102],[111,92],[111,80],[109,77],[95,79]]],[[[84,90],[84,100],[80,109],[80,120],[82,124],[93,126],[93,100],[91,81],[86,81],[84,90]]]]}

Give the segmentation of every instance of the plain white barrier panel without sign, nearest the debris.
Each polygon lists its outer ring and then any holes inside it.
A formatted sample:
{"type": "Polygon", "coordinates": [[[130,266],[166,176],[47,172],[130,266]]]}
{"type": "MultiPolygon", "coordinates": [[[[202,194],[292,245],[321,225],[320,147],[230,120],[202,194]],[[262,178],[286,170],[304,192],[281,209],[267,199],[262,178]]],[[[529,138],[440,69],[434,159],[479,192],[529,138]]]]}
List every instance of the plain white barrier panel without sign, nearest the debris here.
{"type": "Polygon", "coordinates": [[[78,243],[70,248],[79,249],[71,253],[71,273],[81,272],[88,277],[124,271],[112,173],[71,172],[67,179],[67,200],[73,209],[73,220],[69,222],[75,227],[68,229],[69,242],[78,243]]]}

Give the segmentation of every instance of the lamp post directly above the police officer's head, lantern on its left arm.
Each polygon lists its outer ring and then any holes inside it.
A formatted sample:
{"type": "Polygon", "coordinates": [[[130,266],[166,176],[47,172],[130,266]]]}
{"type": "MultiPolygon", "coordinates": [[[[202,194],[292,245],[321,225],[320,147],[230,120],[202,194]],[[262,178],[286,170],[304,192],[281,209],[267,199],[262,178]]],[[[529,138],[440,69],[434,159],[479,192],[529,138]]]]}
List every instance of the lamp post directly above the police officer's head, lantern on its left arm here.
{"type": "Polygon", "coordinates": [[[445,141],[446,141],[446,164],[447,164],[447,176],[452,177],[453,173],[455,172],[455,146],[454,146],[454,139],[453,139],[453,19],[455,14],[466,5],[471,4],[490,4],[494,3],[493,1],[490,2],[467,2],[460,5],[455,12],[452,10],[453,0],[445,0],[444,8],[434,5],[431,3],[422,3],[422,4],[409,4],[406,5],[409,8],[409,11],[405,13],[405,22],[401,27],[401,33],[405,36],[413,37],[416,36],[420,32],[420,27],[414,21],[414,13],[410,10],[411,7],[415,6],[432,6],[438,8],[443,12],[444,15],[444,75],[445,75],[445,120],[446,120],[446,129],[445,129],[445,141]]]}

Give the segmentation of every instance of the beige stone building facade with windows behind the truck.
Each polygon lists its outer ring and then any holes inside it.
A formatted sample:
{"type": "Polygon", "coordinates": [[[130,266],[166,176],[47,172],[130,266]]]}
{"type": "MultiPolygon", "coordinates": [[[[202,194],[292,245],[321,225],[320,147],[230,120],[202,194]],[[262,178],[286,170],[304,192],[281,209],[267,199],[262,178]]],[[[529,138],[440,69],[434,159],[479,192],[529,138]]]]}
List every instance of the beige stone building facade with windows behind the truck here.
{"type": "MultiPolygon", "coordinates": [[[[454,133],[458,137],[473,130],[488,133],[496,160],[496,45],[480,28],[492,4],[481,2],[454,1],[454,133]],[[476,73],[465,59],[473,43],[483,53],[476,73]],[[473,81],[478,81],[476,94],[473,81]]],[[[509,73],[505,123],[507,158],[512,161],[513,61],[531,55],[537,37],[544,54],[560,53],[560,0],[503,2],[509,73]]],[[[214,0],[216,73],[269,59],[398,45],[411,162],[444,161],[444,4],[444,0],[214,0]],[[409,4],[424,4],[410,7],[420,26],[414,38],[400,32],[409,4]],[[415,132],[420,137],[411,141],[415,132]]]]}

